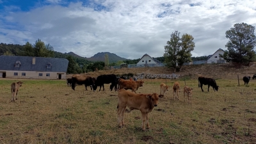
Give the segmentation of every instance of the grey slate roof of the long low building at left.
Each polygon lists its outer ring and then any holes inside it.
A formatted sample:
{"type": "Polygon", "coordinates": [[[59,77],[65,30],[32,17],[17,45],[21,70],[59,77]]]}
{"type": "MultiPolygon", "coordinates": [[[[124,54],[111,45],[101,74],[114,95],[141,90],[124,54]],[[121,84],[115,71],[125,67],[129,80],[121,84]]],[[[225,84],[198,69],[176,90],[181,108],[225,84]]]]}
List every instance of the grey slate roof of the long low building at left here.
{"type": "Polygon", "coordinates": [[[41,58],[31,56],[0,56],[0,70],[38,71],[38,72],[67,72],[68,60],[64,58],[41,58]],[[35,65],[32,60],[35,58],[35,65]],[[20,61],[20,67],[15,67],[20,61]],[[47,64],[51,63],[51,68],[47,64]]]}

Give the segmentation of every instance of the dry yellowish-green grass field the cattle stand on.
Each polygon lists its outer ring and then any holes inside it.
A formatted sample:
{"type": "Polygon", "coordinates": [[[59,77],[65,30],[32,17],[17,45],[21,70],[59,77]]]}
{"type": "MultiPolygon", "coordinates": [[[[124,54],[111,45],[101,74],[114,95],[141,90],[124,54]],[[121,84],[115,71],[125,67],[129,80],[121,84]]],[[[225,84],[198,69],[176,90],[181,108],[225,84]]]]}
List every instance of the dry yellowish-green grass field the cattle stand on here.
{"type": "MultiPolygon", "coordinates": [[[[159,93],[170,79],[144,79],[138,93],[159,93]]],[[[184,87],[183,79],[178,79],[184,87]]],[[[214,92],[196,79],[192,104],[172,90],[149,114],[150,129],[142,131],[140,111],[125,113],[118,128],[117,93],[73,91],[63,80],[0,79],[0,143],[256,143],[256,80],[237,86],[236,79],[216,79],[214,92]],[[18,100],[11,102],[10,84],[22,81],[18,100]]]]}

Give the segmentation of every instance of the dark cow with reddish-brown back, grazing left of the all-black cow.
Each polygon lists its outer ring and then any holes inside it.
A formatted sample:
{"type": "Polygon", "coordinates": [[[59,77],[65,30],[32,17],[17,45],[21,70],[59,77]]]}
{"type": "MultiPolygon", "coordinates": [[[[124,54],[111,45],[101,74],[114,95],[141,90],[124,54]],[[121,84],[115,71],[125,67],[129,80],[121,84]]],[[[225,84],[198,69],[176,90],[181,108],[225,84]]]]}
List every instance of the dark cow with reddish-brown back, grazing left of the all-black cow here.
{"type": "Polygon", "coordinates": [[[87,90],[87,86],[91,87],[92,90],[92,85],[95,83],[95,78],[90,77],[90,76],[81,76],[79,74],[74,74],[72,76],[72,89],[75,90],[76,84],[77,85],[83,85],[85,86],[85,90],[87,90]]]}

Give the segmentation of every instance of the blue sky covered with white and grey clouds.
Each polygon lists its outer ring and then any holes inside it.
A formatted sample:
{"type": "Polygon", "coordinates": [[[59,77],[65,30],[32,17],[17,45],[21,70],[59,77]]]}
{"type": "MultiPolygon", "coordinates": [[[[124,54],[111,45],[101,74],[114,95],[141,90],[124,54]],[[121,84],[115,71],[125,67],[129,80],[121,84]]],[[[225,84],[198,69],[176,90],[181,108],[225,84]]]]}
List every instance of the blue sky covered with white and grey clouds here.
{"type": "Polygon", "coordinates": [[[234,24],[256,26],[253,0],[0,0],[0,43],[42,40],[86,58],[111,52],[127,59],[164,54],[175,31],[192,35],[192,56],[226,50],[234,24]]]}

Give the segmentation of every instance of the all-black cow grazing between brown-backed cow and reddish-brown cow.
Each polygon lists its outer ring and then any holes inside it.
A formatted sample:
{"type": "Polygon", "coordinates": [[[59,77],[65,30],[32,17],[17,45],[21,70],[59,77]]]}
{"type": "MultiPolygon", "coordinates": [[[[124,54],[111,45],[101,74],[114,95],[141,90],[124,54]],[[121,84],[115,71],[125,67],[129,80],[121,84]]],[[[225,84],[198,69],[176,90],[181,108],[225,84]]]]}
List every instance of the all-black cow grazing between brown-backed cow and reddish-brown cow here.
{"type": "Polygon", "coordinates": [[[101,86],[103,87],[103,90],[105,90],[104,84],[109,84],[109,83],[111,83],[111,86],[110,86],[111,91],[113,90],[114,87],[115,87],[115,90],[117,90],[115,74],[104,74],[104,75],[98,76],[95,81],[95,84],[93,84],[93,86],[92,86],[93,92],[97,89],[97,86],[100,86],[100,90],[101,90],[101,86]]]}

